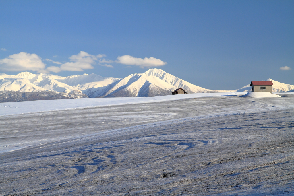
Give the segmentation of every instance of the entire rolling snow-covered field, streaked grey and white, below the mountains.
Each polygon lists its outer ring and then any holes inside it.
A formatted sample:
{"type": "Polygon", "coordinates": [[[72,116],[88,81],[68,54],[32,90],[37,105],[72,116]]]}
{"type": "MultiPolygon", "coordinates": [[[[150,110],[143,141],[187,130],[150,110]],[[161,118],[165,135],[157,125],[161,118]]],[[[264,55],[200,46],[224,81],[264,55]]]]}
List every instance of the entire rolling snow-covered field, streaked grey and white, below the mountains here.
{"type": "Polygon", "coordinates": [[[293,195],[294,93],[0,103],[3,195],[293,195]]]}

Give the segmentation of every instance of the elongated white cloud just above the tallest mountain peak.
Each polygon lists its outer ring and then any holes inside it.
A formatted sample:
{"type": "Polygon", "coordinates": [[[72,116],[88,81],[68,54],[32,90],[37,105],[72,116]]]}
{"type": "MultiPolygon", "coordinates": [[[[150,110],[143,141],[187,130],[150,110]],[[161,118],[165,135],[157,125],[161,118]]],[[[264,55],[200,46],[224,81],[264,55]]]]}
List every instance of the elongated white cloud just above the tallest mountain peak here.
{"type": "Polygon", "coordinates": [[[116,62],[125,64],[125,65],[136,65],[136,66],[139,66],[140,68],[158,67],[158,66],[163,66],[167,64],[166,62],[161,61],[160,59],[154,58],[154,57],[150,57],[150,58],[145,57],[144,59],[142,59],[142,58],[132,57],[130,55],[118,56],[116,62]]]}

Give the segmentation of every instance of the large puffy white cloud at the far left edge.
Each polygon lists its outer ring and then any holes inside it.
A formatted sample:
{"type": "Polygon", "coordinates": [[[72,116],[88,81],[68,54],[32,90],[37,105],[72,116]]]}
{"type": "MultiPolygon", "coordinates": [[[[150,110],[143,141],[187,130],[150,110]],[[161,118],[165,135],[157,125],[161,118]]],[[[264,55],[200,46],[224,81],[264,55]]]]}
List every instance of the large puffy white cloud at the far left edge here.
{"type": "Polygon", "coordinates": [[[0,70],[3,71],[39,71],[45,68],[45,64],[36,54],[20,52],[0,59],[0,70]]]}

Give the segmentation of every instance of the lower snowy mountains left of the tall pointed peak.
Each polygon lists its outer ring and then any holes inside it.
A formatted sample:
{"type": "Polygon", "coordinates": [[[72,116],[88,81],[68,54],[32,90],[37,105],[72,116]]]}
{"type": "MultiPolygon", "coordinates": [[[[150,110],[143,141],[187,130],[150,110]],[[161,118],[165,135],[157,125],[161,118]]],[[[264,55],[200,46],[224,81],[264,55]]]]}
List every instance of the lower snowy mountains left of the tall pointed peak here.
{"type": "Polygon", "coordinates": [[[102,77],[96,74],[74,76],[56,76],[52,74],[33,74],[21,72],[15,76],[0,74],[0,91],[39,92],[56,91],[61,93],[79,92],[89,94],[105,88],[118,78],[102,77]]]}

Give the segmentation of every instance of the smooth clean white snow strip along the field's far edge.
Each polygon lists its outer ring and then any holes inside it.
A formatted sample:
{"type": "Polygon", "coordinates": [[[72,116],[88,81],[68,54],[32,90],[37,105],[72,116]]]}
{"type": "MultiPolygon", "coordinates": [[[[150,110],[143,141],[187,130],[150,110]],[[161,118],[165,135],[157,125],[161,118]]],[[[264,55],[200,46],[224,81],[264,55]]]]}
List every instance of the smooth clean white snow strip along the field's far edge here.
{"type": "Polygon", "coordinates": [[[187,98],[207,97],[207,96],[238,96],[245,93],[192,93],[185,95],[167,95],[156,97],[112,97],[112,98],[91,98],[74,100],[39,100],[28,102],[0,103],[0,116],[9,114],[21,114],[31,112],[41,112],[50,110],[66,110],[74,108],[99,107],[109,105],[122,105],[133,103],[152,103],[170,100],[180,100],[187,98]]]}

